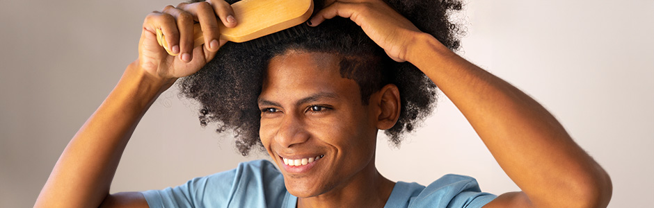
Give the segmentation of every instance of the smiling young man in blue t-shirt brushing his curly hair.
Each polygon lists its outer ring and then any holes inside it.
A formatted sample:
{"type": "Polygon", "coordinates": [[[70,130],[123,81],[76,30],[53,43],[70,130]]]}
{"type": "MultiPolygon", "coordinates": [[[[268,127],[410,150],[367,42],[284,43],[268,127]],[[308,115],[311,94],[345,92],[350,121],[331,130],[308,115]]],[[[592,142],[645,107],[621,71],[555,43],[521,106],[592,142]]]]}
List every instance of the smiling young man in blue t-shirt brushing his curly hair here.
{"type": "Polygon", "coordinates": [[[267,55],[261,58],[247,56],[245,60],[262,70],[242,72],[234,66],[247,64],[234,62],[239,59],[228,54],[240,57],[244,52],[218,39],[218,21],[230,27],[238,22],[229,3],[182,3],[150,14],[143,24],[138,59],[70,141],[35,207],[607,206],[612,191],[607,173],[539,103],[453,53],[450,49],[456,44],[451,39],[421,31],[428,28],[418,28],[397,12],[399,7],[381,0],[326,1],[319,8],[309,21],[311,26],[340,26],[326,19],[349,18],[379,51],[365,50],[367,44],[359,43],[366,40],[356,35],[321,36],[325,33],[314,31],[265,49],[267,55]],[[209,44],[193,48],[193,19],[206,28],[203,33],[209,44]],[[180,55],[170,56],[157,44],[155,28],[168,33],[170,51],[180,55]],[[356,47],[329,44],[332,40],[356,47]],[[225,56],[216,55],[218,49],[225,56]],[[389,69],[379,53],[406,64],[390,63],[396,67],[389,69]],[[208,67],[198,71],[205,64],[208,67]],[[221,70],[210,70],[216,65],[221,70]],[[481,193],[469,177],[447,175],[422,187],[392,182],[376,171],[378,130],[390,130],[399,142],[394,132],[411,130],[415,119],[424,116],[411,110],[431,110],[433,99],[420,100],[416,96],[420,94],[412,96],[407,90],[418,89],[427,96],[433,92],[424,87],[421,76],[407,72],[413,68],[399,67],[409,65],[424,73],[463,112],[522,191],[495,197],[481,193]],[[182,89],[200,100],[205,119],[241,129],[245,137],[237,140],[239,150],[247,153],[261,144],[280,169],[270,162],[248,162],[180,187],[109,194],[120,155],[138,120],[177,78],[191,74],[182,89]],[[230,101],[214,94],[230,95],[229,89],[203,87],[222,85],[230,76],[233,80],[246,77],[232,83],[236,86],[247,83],[243,80],[258,80],[253,88],[260,92],[233,98],[243,97],[246,104],[222,112],[230,108],[218,105],[230,101]],[[411,88],[410,83],[422,87],[411,88]],[[239,120],[252,118],[250,104],[258,109],[259,122],[248,125],[239,120]]]}

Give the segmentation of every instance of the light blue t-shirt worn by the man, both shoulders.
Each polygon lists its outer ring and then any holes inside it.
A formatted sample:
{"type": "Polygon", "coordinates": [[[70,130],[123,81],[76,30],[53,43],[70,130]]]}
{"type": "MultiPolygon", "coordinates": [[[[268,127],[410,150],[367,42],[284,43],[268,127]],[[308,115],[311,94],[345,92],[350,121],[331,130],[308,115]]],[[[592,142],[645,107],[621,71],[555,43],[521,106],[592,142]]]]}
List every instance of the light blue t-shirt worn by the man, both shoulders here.
{"type": "MultiPolygon", "coordinates": [[[[179,187],[141,193],[152,208],[295,208],[298,201],[286,191],[282,173],[264,159],[243,162],[231,171],[196,177],[179,187]]],[[[445,175],[427,187],[397,182],[385,207],[482,207],[495,197],[482,193],[472,177],[445,175]]]]}

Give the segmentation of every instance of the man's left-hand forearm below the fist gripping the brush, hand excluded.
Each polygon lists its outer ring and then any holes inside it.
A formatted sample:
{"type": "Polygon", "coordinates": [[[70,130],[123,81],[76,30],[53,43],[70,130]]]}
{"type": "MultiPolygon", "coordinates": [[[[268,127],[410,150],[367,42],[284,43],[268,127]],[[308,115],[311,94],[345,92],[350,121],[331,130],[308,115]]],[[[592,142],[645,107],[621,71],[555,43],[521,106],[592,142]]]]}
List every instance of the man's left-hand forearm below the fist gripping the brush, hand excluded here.
{"type": "Polygon", "coordinates": [[[129,137],[143,114],[170,86],[130,64],[118,85],[59,157],[35,207],[97,207],[109,193],[129,137]]]}

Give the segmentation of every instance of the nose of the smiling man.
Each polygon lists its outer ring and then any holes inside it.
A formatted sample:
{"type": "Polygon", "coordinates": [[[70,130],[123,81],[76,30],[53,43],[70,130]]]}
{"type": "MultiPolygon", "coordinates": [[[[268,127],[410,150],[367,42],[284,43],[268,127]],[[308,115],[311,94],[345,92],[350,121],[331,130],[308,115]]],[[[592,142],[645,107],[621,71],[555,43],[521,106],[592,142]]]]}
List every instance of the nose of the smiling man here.
{"type": "Polygon", "coordinates": [[[303,120],[295,114],[287,114],[280,123],[275,140],[283,147],[289,148],[294,144],[306,142],[309,136],[303,120]]]}

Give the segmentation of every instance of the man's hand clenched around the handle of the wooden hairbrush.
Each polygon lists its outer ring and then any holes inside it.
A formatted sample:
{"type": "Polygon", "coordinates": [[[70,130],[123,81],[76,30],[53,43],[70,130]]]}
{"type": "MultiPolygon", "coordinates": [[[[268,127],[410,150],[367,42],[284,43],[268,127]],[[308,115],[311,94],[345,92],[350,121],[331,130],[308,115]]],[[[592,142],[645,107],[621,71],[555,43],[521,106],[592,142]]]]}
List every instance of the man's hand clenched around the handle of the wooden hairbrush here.
{"type": "Polygon", "coordinates": [[[172,82],[196,73],[227,42],[220,39],[218,24],[237,25],[232,6],[224,0],[180,3],[150,13],[145,17],[138,42],[138,67],[155,78],[172,82]],[[200,22],[205,44],[193,48],[193,24],[196,22],[200,22]],[[168,50],[176,53],[174,56],[157,43],[157,28],[166,36],[168,50]]]}

